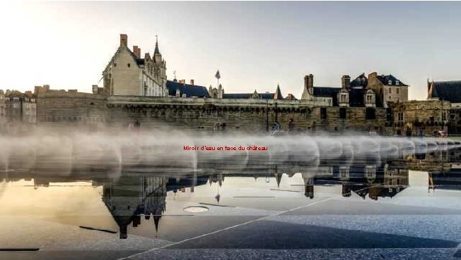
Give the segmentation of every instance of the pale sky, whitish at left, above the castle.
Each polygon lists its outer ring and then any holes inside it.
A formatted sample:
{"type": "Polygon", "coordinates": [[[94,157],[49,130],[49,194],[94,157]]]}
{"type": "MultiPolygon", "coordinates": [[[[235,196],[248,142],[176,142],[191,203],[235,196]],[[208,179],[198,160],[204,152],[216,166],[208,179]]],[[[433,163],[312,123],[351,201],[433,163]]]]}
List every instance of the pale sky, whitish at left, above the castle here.
{"type": "Polygon", "coordinates": [[[426,81],[461,80],[460,2],[20,2],[0,4],[0,89],[91,92],[119,46],[152,54],[158,35],[167,78],[226,93],[300,98],[303,77],[392,74],[409,99],[426,81]]]}

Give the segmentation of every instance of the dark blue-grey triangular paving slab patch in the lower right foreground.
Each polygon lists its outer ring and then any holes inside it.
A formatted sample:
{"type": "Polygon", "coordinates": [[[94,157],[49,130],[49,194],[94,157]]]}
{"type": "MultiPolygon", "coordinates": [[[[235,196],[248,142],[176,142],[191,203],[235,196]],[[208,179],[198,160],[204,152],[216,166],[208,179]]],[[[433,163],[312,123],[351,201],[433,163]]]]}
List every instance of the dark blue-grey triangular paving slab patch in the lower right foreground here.
{"type": "Polygon", "coordinates": [[[455,248],[459,242],[280,221],[257,221],[222,230],[170,249],[455,248]]]}

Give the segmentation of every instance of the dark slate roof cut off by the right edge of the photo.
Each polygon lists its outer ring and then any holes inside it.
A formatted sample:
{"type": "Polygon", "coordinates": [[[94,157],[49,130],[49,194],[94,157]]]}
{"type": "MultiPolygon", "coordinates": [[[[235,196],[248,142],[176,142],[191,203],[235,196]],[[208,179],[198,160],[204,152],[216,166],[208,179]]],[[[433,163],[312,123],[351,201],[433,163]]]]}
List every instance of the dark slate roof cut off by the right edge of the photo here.
{"type": "Polygon", "coordinates": [[[461,80],[434,81],[428,92],[428,98],[438,98],[461,103],[461,80]]]}

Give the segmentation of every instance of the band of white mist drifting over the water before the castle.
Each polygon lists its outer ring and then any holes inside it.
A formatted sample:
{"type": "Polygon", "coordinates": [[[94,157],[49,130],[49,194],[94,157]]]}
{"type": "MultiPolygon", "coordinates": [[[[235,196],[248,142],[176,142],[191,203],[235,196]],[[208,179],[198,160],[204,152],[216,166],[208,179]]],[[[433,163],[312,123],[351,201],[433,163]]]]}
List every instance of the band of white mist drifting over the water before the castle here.
{"type": "Polygon", "coordinates": [[[344,166],[365,160],[402,158],[460,147],[460,142],[435,138],[366,135],[233,135],[168,132],[103,132],[94,134],[41,132],[0,137],[0,172],[29,171],[37,175],[104,173],[117,178],[122,169],[139,173],[192,171],[303,172],[321,161],[344,166]]]}

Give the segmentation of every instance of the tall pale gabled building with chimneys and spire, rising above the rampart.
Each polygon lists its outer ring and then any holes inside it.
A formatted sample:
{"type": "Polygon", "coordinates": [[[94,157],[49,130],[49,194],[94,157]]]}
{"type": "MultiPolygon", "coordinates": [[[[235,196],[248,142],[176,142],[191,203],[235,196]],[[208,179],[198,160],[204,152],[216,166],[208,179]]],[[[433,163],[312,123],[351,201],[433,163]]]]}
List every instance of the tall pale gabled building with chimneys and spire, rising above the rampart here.
{"type": "MultiPolygon", "coordinates": [[[[128,36],[120,35],[120,45],[103,71],[103,92],[110,96],[168,97],[166,63],[156,42],[153,56],[128,47],[128,36]]],[[[94,92],[94,90],[93,90],[94,92]]]]}

